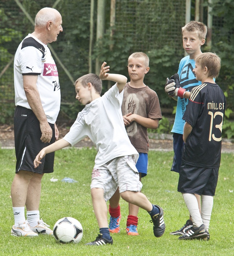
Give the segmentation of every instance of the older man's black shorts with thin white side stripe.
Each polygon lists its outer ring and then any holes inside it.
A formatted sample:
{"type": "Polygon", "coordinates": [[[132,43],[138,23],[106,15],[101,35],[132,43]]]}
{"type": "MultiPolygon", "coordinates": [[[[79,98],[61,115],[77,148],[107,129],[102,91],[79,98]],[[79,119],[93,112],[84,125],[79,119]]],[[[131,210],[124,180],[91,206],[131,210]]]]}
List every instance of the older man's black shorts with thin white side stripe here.
{"type": "Polygon", "coordinates": [[[54,152],[46,154],[35,169],[34,159],[44,147],[55,142],[54,124],[50,124],[52,139],[50,143],[41,142],[40,123],[31,109],[17,106],[14,114],[14,135],[16,173],[20,170],[34,173],[52,173],[54,171],[54,152]]]}

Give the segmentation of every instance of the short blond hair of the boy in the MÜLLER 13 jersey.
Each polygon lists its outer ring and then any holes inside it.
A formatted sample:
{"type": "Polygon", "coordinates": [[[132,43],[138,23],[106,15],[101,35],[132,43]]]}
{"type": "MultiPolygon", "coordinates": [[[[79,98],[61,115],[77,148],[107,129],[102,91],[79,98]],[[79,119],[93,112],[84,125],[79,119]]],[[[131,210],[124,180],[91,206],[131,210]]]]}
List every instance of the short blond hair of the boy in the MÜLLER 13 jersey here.
{"type": "Polygon", "coordinates": [[[215,53],[200,53],[195,57],[195,62],[202,68],[207,67],[209,77],[218,77],[221,59],[215,53]]]}

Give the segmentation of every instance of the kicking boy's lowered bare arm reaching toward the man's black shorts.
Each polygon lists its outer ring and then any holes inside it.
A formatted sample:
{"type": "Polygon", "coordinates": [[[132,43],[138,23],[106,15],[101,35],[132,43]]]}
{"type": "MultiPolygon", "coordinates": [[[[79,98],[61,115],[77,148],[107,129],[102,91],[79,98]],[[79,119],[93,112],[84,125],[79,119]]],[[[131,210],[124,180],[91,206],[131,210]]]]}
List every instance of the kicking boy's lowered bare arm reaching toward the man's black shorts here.
{"type": "Polygon", "coordinates": [[[51,145],[41,149],[41,151],[38,153],[38,155],[36,156],[35,160],[34,160],[34,168],[37,168],[39,166],[39,164],[41,164],[41,159],[48,153],[57,151],[59,149],[65,148],[67,146],[71,145],[70,143],[68,143],[66,140],[61,139],[61,140],[57,140],[55,141],[55,143],[52,143],[51,145]]]}

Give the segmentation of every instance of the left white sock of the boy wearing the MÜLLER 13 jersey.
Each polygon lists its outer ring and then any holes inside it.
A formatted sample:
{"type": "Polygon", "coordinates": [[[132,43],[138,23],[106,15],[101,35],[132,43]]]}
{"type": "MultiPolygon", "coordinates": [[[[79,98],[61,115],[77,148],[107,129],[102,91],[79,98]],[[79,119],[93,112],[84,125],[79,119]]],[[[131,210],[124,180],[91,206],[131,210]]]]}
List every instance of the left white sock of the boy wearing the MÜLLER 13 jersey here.
{"type": "Polygon", "coordinates": [[[183,198],[185,200],[185,204],[188,208],[188,211],[190,215],[192,216],[193,220],[193,226],[195,228],[199,228],[200,225],[203,224],[202,222],[202,217],[199,211],[198,203],[197,203],[197,198],[194,194],[183,194],[183,198]]]}

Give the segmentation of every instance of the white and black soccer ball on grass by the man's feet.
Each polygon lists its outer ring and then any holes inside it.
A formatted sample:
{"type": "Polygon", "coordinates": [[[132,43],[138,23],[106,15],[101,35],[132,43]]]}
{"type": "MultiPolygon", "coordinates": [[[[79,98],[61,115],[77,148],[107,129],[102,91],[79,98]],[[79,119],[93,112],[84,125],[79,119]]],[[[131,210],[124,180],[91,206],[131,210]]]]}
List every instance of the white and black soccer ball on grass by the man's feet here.
{"type": "Polygon", "coordinates": [[[64,217],[54,224],[54,238],[57,243],[79,243],[83,236],[80,222],[72,217],[64,217]]]}

